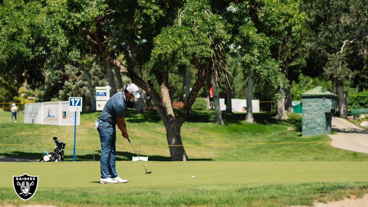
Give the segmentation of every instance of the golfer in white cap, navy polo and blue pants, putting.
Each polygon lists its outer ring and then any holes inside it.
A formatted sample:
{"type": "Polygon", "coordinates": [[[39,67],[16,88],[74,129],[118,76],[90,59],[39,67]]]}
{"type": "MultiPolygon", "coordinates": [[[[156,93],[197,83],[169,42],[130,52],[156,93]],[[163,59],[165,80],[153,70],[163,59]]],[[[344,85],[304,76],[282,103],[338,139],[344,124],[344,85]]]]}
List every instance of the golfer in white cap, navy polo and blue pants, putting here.
{"type": "Polygon", "coordinates": [[[101,141],[101,179],[100,183],[126,183],[116,172],[116,130],[115,125],[119,127],[124,138],[128,138],[127,125],[124,120],[124,112],[127,107],[128,99],[139,98],[138,86],[128,84],[123,92],[117,92],[109,101],[106,102],[101,115],[93,124],[100,134],[101,141]]]}

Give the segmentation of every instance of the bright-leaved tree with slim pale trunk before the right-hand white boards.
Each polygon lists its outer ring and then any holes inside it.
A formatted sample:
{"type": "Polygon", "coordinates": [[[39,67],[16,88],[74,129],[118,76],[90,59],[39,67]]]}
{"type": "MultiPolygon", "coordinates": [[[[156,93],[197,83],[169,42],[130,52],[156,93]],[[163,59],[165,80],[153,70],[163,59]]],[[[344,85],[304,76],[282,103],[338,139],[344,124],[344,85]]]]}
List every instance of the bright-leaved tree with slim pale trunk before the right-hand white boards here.
{"type": "Polygon", "coordinates": [[[295,35],[300,30],[298,3],[250,1],[232,4],[228,11],[234,25],[233,52],[241,57],[240,64],[245,75],[249,76],[245,120],[254,122],[251,98],[255,76],[260,78],[265,90],[270,94],[279,98],[283,95],[279,90],[286,85],[286,79],[280,73],[281,62],[272,57],[270,50],[279,42],[279,37],[275,34],[291,31],[291,34],[295,35]]]}

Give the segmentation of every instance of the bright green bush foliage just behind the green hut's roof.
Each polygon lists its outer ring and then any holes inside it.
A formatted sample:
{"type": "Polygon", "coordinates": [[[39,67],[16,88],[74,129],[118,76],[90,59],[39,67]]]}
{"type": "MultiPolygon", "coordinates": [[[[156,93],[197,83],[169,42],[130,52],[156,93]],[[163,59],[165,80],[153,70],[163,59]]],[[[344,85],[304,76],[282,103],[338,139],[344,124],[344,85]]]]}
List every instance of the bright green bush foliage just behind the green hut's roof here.
{"type": "Polygon", "coordinates": [[[326,80],[325,78],[319,77],[312,78],[300,74],[298,81],[291,81],[290,84],[291,99],[293,100],[302,99],[300,94],[304,93],[305,91],[309,91],[317,86],[322,86],[326,90],[331,91],[332,83],[331,81],[326,80]]]}

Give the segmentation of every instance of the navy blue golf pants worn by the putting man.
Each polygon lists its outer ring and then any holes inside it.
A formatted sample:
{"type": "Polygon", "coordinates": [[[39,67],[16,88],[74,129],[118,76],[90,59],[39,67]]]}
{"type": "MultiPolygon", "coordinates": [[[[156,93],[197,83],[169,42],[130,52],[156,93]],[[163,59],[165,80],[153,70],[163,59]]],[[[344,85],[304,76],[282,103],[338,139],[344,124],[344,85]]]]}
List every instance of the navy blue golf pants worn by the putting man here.
{"type": "Polygon", "coordinates": [[[97,119],[97,130],[101,141],[101,178],[116,178],[116,130],[115,125],[97,119]]]}

